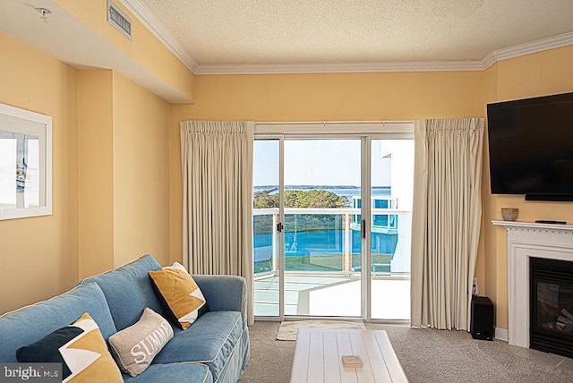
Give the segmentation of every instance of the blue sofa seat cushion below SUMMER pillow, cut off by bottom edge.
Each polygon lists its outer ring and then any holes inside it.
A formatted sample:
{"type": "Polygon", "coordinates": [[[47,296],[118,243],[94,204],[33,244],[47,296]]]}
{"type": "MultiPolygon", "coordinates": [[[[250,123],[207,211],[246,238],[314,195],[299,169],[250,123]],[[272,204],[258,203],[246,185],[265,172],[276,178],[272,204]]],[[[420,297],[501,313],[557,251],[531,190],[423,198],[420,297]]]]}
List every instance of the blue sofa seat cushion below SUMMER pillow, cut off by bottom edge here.
{"type": "Polygon", "coordinates": [[[126,383],[212,383],[213,375],[201,363],[151,364],[141,375],[124,374],[126,383]]]}

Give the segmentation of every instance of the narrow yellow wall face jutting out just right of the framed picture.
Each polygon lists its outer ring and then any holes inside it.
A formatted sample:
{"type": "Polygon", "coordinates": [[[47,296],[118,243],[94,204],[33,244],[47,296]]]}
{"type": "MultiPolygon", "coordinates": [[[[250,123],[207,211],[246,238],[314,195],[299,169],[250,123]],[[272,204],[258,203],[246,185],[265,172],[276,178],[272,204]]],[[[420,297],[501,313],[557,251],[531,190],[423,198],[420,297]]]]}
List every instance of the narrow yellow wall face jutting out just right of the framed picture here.
{"type": "Polygon", "coordinates": [[[78,74],[80,277],[114,267],[112,71],[78,74]]]}

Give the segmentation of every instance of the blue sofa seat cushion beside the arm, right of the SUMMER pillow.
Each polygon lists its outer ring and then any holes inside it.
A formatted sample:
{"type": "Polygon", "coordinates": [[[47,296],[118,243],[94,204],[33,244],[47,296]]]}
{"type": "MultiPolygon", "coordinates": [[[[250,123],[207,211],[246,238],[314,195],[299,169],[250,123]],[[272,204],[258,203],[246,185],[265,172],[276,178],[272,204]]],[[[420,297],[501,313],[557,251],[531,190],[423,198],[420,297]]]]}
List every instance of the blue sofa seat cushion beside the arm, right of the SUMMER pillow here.
{"type": "Polygon", "coordinates": [[[202,362],[209,366],[213,380],[218,381],[242,334],[239,311],[209,311],[187,330],[175,328],[175,336],[153,362],[202,362]]]}

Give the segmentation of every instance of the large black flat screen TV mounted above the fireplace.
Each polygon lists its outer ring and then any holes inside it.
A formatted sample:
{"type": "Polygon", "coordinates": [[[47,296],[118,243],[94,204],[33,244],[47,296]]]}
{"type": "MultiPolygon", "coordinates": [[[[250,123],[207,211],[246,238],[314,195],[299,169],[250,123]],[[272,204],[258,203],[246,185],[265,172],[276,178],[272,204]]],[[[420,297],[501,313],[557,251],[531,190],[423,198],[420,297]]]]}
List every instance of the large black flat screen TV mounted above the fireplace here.
{"type": "Polygon", "coordinates": [[[493,194],[573,200],[573,93],[487,105],[493,194]]]}

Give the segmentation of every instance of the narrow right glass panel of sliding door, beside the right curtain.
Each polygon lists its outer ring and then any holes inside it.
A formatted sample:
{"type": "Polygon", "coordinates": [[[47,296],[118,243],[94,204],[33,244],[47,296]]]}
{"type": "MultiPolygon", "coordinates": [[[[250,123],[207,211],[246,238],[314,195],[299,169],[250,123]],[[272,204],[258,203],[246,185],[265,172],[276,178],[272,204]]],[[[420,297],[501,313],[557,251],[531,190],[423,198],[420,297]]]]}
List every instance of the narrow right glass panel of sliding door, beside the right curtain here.
{"type": "Polygon", "coordinates": [[[414,140],[371,141],[371,318],[410,319],[414,140]]]}

